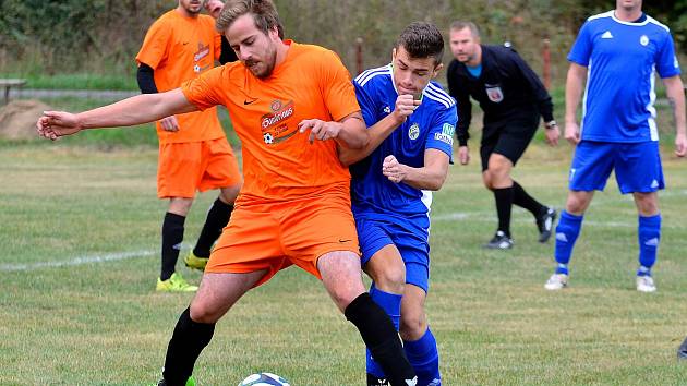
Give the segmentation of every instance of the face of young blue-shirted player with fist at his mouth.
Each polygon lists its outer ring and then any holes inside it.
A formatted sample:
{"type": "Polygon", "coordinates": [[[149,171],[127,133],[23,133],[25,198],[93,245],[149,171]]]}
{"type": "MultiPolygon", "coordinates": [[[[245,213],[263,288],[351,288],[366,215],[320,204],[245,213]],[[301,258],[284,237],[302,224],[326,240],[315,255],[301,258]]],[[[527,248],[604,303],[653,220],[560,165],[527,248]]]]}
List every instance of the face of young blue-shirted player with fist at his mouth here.
{"type": "Polygon", "coordinates": [[[411,94],[420,99],[422,91],[436,76],[443,64],[436,64],[434,58],[411,58],[403,46],[394,49],[394,84],[398,94],[411,94]]]}

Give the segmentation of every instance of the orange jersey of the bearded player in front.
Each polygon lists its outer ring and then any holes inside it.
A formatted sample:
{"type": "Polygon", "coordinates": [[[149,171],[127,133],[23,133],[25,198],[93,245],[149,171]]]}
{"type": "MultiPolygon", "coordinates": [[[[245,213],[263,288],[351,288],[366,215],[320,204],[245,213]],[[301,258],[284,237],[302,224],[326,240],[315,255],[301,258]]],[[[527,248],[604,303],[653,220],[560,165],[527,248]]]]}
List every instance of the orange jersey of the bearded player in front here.
{"type": "Polygon", "coordinates": [[[200,109],[224,105],[241,140],[244,183],[239,202],[288,201],[329,189],[349,195],[350,174],[333,140],[309,142],[305,119],[339,121],[360,111],[350,74],[339,57],[318,46],[289,45],[266,79],[241,62],[213,69],[183,84],[200,109]]]}

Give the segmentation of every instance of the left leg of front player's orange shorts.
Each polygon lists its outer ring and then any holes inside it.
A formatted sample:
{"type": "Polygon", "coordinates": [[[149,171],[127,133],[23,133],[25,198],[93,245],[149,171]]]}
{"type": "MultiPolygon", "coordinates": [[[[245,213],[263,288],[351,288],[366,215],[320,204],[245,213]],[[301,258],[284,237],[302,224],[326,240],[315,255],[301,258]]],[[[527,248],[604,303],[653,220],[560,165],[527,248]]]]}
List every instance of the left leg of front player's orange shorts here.
{"type": "Polygon", "coordinates": [[[291,263],[281,248],[279,221],[270,205],[238,205],[213,249],[205,273],[264,272],[254,286],[291,263]]]}

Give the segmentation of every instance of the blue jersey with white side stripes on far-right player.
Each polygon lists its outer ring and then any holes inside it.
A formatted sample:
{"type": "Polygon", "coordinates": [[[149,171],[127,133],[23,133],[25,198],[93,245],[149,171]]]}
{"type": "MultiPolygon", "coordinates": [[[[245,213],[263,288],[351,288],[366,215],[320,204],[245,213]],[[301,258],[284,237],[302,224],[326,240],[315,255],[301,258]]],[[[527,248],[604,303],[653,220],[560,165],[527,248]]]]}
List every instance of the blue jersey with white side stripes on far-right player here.
{"type": "Polygon", "coordinates": [[[623,22],[614,11],[591,16],[568,60],[588,68],[582,140],[659,141],[654,75],[680,73],[668,27],[649,16],[623,22]]]}

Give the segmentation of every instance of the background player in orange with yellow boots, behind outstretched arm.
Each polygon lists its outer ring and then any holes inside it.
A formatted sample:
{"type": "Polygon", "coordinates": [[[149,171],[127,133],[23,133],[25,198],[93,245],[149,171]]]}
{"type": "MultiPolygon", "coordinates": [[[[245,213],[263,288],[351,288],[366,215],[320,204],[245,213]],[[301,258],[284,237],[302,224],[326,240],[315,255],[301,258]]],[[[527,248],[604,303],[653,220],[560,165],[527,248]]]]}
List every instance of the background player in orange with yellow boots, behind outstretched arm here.
{"type": "MultiPolygon", "coordinates": [[[[203,1],[179,0],[174,10],[150,26],[136,56],[142,93],[177,88],[214,68],[216,59],[227,60],[220,58],[220,35],[215,31],[215,20],[200,14],[202,9],[203,1]]],[[[197,287],[174,272],[195,192],[220,190],[195,248],[184,258],[186,266],[204,269],[213,243],[229,221],[241,188],[241,174],[216,108],[165,117],[157,122],[157,133],[160,144],[157,193],[160,198],[169,198],[169,207],[162,221],[162,263],[156,288],[195,291],[197,287]]]]}

